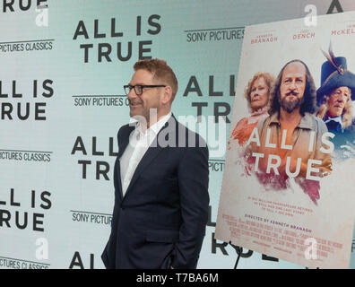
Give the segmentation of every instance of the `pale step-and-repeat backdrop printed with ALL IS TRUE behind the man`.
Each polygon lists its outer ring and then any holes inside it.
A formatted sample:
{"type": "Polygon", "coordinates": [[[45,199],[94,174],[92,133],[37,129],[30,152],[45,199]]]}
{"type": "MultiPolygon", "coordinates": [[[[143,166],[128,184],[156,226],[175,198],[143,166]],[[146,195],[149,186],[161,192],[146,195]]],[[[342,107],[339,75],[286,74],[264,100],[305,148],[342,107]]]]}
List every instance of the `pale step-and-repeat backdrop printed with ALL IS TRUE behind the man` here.
{"type": "Polygon", "coordinates": [[[123,85],[137,60],[152,57],[177,74],[173,113],[210,147],[197,267],[232,268],[239,253],[238,268],[304,268],[214,238],[233,103],[243,97],[239,57],[248,25],[312,25],[316,15],[352,10],[344,0],[2,0],[0,268],[104,267],[117,130],[129,121],[123,85]]]}

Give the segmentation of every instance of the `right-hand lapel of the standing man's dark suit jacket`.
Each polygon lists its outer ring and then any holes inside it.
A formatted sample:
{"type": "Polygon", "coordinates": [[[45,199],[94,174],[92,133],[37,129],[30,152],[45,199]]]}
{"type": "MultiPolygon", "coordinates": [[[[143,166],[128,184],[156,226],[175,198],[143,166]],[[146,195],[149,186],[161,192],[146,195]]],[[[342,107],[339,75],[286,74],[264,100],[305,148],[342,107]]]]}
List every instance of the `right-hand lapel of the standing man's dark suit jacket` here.
{"type": "Polygon", "coordinates": [[[176,121],[177,121],[176,118],[174,116],[171,116],[168,122],[165,124],[165,126],[163,126],[160,129],[158,135],[152,142],[151,146],[148,148],[147,152],[144,153],[142,160],[138,163],[137,168],[134,171],[134,175],[131,179],[131,182],[129,183],[129,186],[127,187],[125,198],[127,194],[130,192],[130,190],[132,189],[132,187],[134,186],[134,183],[137,180],[137,178],[139,178],[139,176],[142,174],[143,170],[145,170],[147,166],[152,162],[152,160],[162,151],[163,148],[160,146],[158,141],[161,131],[167,128],[167,126],[169,127],[176,126],[177,124],[176,121]]]}

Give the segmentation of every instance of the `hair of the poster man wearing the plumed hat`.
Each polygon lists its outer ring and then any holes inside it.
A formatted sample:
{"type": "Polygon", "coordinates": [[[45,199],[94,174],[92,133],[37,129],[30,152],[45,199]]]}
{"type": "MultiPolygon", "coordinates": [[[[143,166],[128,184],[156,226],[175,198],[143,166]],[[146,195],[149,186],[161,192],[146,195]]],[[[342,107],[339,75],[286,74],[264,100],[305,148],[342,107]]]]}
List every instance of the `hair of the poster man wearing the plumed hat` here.
{"type": "MultiPolygon", "coordinates": [[[[326,91],[323,99],[322,99],[322,104],[316,111],[316,117],[322,118],[323,120],[326,119],[326,115],[328,112],[328,100],[330,98],[330,95],[333,93],[338,88],[335,88],[331,91],[326,91]]],[[[348,87],[349,89],[349,87],[348,87]]],[[[352,122],[352,100],[351,100],[351,89],[349,89],[349,98],[348,101],[344,105],[344,109],[342,109],[342,126],[343,128],[346,128],[348,126],[351,126],[352,122]]]]}

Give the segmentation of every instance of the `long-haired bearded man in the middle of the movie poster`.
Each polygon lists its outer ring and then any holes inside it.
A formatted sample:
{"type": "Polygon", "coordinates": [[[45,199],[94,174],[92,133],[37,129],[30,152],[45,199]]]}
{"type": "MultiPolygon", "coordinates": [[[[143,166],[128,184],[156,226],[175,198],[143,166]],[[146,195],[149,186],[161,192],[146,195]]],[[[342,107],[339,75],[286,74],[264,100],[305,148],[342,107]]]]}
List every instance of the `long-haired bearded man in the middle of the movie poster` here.
{"type": "Polygon", "coordinates": [[[281,69],[272,91],[269,117],[259,121],[247,144],[260,182],[273,189],[295,178],[316,204],[319,179],[332,165],[332,137],[316,110],[316,87],[308,67],[292,60],[281,69]]]}

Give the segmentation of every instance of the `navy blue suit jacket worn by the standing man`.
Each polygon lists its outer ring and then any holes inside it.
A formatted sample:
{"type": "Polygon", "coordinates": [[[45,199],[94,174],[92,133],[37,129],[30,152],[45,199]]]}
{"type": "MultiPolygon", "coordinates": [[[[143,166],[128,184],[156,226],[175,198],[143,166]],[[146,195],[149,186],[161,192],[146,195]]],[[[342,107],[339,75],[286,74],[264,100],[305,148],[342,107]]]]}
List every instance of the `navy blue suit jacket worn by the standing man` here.
{"type": "Polygon", "coordinates": [[[115,205],[102,261],[107,268],[195,268],[208,218],[208,148],[170,117],[123,196],[119,158],[133,129],[122,126],[117,135],[115,205]]]}

